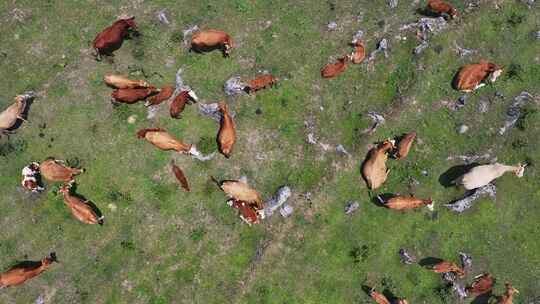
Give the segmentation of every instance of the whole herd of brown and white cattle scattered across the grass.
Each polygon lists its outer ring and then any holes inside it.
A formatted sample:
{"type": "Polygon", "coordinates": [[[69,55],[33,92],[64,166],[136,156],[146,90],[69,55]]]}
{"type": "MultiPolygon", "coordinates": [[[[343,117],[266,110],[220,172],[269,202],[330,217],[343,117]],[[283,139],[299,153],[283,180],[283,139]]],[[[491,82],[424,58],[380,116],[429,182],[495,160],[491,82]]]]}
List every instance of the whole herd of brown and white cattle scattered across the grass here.
{"type": "MultiPolygon", "coordinates": [[[[435,14],[448,18],[455,18],[458,12],[448,3],[441,0],[429,0],[427,9],[435,14]]],[[[114,22],[110,27],[97,35],[93,42],[96,52],[96,59],[101,60],[102,56],[112,55],[121,47],[123,40],[131,32],[137,31],[134,17],[123,18],[114,22]]],[[[338,62],[328,64],[321,70],[321,76],[331,78],[344,72],[347,64],[352,62],[360,64],[365,59],[365,47],[362,41],[353,41],[353,51],[351,54],[342,56],[338,62]]],[[[191,40],[191,50],[196,52],[208,52],[220,50],[224,57],[228,57],[234,48],[231,36],[219,30],[204,30],[195,33],[191,40]]],[[[495,81],[502,73],[502,68],[494,63],[481,61],[477,64],[470,64],[462,67],[456,74],[453,81],[455,89],[463,92],[471,92],[485,85],[486,81],[495,81]]],[[[199,101],[195,92],[189,87],[178,88],[174,86],[163,86],[160,89],[152,86],[144,80],[130,80],[120,75],[106,75],[105,83],[114,88],[111,94],[113,103],[134,104],[139,101],[146,101],[146,106],[159,106],[164,102],[169,102],[170,116],[180,118],[180,114],[186,104],[199,101]]],[[[245,87],[247,93],[253,93],[260,89],[276,84],[277,79],[270,75],[260,75],[249,82],[245,87]]],[[[12,132],[15,124],[23,118],[23,113],[27,107],[27,102],[33,96],[18,95],[15,103],[0,113],[0,131],[2,133],[12,132]]],[[[228,106],[225,102],[220,102],[218,112],[221,116],[220,128],[217,135],[219,151],[229,158],[233,153],[236,142],[236,128],[232,116],[229,114],[228,106]]],[[[137,137],[145,139],[158,149],[164,151],[176,151],[184,154],[198,155],[195,146],[187,144],[177,139],[174,135],[161,128],[141,129],[137,132],[137,137]]],[[[401,160],[408,156],[417,134],[411,132],[396,139],[388,139],[371,149],[362,164],[362,176],[371,190],[381,187],[388,178],[389,170],[386,162],[389,158],[401,160]]],[[[467,190],[477,189],[491,183],[496,178],[506,172],[514,172],[518,177],[523,176],[525,165],[506,166],[495,163],[476,166],[458,178],[455,183],[462,185],[467,190]]],[[[190,191],[190,186],[182,170],[171,163],[171,170],[177,178],[181,187],[185,191],[190,191]]],[[[71,168],[63,161],[48,158],[41,163],[33,162],[22,169],[22,186],[30,192],[41,192],[45,188],[41,184],[41,179],[49,182],[60,182],[63,185],[59,192],[63,195],[64,202],[73,216],[85,224],[103,224],[103,215],[89,201],[82,199],[78,195],[72,194],[72,185],[75,177],[84,172],[84,169],[71,168]]],[[[230,198],[227,204],[238,210],[240,217],[248,224],[259,223],[264,219],[264,201],[261,194],[253,189],[243,180],[217,181],[212,178],[224,193],[230,198]]],[[[395,196],[384,201],[379,197],[381,203],[395,210],[408,210],[427,206],[433,210],[434,203],[431,198],[420,199],[414,196],[395,196]]],[[[53,253],[40,262],[25,262],[17,265],[5,273],[0,274],[0,288],[16,286],[24,283],[43,271],[56,261],[53,253]]],[[[466,265],[462,267],[448,261],[441,261],[432,265],[430,269],[436,273],[441,273],[445,278],[462,278],[467,274],[466,265]]],[[[495,279],[488,273],[475,278],[474,282],[468,285],[460,294],[464,296],[479,296],[491,293],[495,279]]],[[[510,283],[506,283],[506,292],[498,297],[498,303],[511,304],[514,293],[517,290],[510,283]]],[[[393,299],[392,302],[381,293],[370,291],[370,296],[379,304],[407,304],[407,300],[393,299]]]]}

